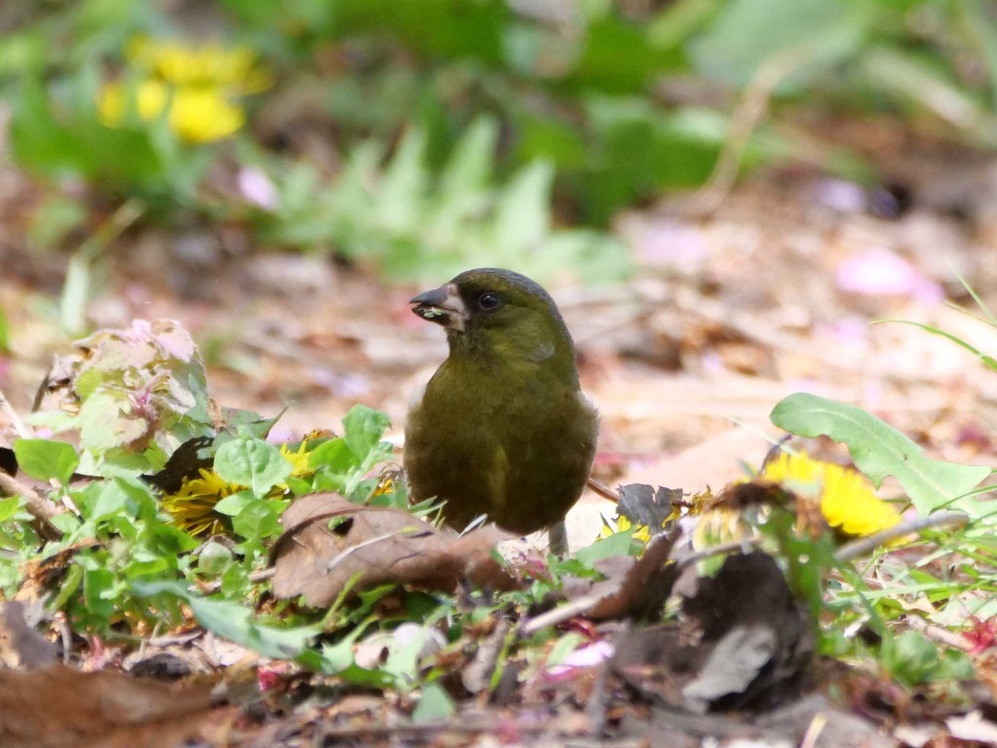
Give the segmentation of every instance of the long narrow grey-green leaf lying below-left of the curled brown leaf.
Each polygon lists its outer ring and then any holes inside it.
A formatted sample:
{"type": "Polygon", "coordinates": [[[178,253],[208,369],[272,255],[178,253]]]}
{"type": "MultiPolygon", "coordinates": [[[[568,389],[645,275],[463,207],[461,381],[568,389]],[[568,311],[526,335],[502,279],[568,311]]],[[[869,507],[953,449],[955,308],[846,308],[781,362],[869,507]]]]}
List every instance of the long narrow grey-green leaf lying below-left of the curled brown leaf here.
{"type": "Polygon", "coordinates": [[[143,581],[133,584],[140,597],[171,594],[185,600],[197,622],[217,635],[275,659],[291,659],[302,653],[309,640],[321,633],[321,624],[278,628],[259,623],[251,607],[228,600],[209,599],[190,591],[180,581],[143,581]]]}

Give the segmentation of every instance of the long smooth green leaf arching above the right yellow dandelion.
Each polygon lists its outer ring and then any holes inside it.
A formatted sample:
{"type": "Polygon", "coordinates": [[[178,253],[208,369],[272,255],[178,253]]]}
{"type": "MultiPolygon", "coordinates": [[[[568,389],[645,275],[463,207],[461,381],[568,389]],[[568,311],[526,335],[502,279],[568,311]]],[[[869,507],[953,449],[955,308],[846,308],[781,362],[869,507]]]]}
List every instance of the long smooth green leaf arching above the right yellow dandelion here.
{"type": "Polygon", "coordinates": [[[964,494],[989,476],[990,468],[926,458],[914,442],[861,408],[800,392],[780,401],[771,419],[791,434],[844,442],[855,467],[876,488],[893,476],[921,516],[948,506],[973,517],[982,513],[982,505],[964,494]]]}

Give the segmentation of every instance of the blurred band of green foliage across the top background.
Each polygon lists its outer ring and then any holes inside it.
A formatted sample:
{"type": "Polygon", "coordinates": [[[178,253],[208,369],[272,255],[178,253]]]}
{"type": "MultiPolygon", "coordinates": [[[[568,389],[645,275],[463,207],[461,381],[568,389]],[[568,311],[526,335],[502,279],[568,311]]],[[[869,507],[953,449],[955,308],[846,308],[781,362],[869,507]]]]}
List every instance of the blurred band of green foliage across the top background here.
{"type": "Polygon", "coordinates": [[[394,275],[411,274],[423,257],[439,267],[555,246],[560,258],[537,264],[594,257],[584,274],[602,276],[619,248],[597,231],[623,208],[702,185],[740,93],[766,75],[778,83],[772,116],[754,129],[742,171],[803,162],[874,179],[874,165],[831,143],[815,148],[813,132],[791,127],[802,112],[811,124],[927,121],[982,148],[997,132],[990,0],[219,0],[172,4],[170,13],[140,0],[53,0],[11,8],[21,13],[0,11],[0,27],[15,19],[0,39],[0,86],[24,168],[139,196],[150,215],[171,220],[248,214],[274,244],[329,248],[394,275]],[[123,80],[134,94],[140,74],[128,49],[140,34],[245,46],[275,85],[238,100],[246,127],[234,138],[184,142],[167,115],[108,127],[102,87],[123,80]],[[325,147],[316,150],[316,140],[325,147]],[[462,159],[478,172],[460,178],[470,193],[455,201],[462,159]],[[276,199],[212,185],[219,165],[233,161],[269,175],[276,199]],[[508,234],[502,205],[515,199],[532,217],[514,246],[498,246],[498,234],[508,234]]]}

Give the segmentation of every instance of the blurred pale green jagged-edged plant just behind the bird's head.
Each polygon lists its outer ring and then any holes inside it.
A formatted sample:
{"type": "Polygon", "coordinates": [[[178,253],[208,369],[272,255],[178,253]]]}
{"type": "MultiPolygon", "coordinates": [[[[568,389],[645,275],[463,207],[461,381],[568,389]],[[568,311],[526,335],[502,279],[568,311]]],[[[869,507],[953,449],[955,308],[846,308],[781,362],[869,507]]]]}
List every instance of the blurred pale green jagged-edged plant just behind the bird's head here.
{"type": "Polygon", "coordinates": [[[377,143],[358,146],[330,187],[298,165],[276,179],[280,207],[260,216],[262,235],[276,244],[332,248],[406,279],[447,277],[483,262],[540,278],[565,271],[588,281],[624,277],[629,262],[618,239],[553,226],[550,164],[534,162],[505,185],[493,184],[497,140],[497,122],[478,119],[439,178],[418,128],[383,169],[377,143]]]}

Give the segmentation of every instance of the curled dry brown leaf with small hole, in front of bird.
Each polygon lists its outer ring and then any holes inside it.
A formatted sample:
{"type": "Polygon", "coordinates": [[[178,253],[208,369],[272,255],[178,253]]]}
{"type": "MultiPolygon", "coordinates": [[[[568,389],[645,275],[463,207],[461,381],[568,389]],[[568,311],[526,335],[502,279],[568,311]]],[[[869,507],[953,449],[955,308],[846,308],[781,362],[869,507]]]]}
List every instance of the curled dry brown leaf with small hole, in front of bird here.
{"type": "Polygon", "coordinates": [[[496,544],[512,537],[495,527],[458,536],[407,512],[363,507],[337,494],[298,499],[281,524],[284,534],[271,555],[277,597],[303,594],[309,604],[330,605],[358,571],[356,589],[400,582],[451,591],[461,579],[495,589],[519,584],[493,558],[496,544]]]}

